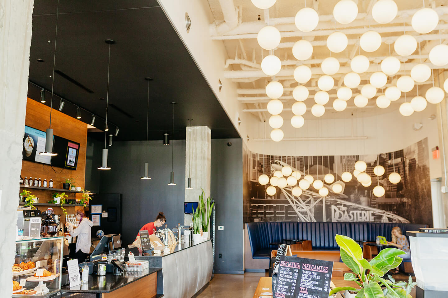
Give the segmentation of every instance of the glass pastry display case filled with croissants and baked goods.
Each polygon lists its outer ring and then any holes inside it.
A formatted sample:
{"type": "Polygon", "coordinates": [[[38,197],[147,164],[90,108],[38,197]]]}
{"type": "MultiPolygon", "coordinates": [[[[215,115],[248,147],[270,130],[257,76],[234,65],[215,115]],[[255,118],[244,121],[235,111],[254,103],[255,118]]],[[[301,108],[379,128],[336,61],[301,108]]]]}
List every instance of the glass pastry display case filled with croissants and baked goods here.
{"type": "Polygon", "coordinates": [[[64,237],[16,241],[12,297],[52,297],[60,293],[64,237]]]}

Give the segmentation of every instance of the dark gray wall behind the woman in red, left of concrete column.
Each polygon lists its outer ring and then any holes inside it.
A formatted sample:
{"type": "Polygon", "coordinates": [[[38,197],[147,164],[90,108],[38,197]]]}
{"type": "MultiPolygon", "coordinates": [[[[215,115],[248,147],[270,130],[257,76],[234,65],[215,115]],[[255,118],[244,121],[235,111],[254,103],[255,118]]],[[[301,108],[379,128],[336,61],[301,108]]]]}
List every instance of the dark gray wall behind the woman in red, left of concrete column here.
{"type": "Polygon", "coordinates": [[[92,165],[91,178],[95,181],[94,177],[99,177],[100,193],[121,193],[121,237],[126,245],[134,241],[144,224],[155,220],[159,211],[164,212],[169,228],[184,222],[185,140],[174,140],[175,186],[167,185],[173,141],[170,140],[169,146],[163,145],[161,140],[149,141],[147,149],[145,143],[115,142],[112,147],[108,146],[110,171],[96,169],[100,160],[92,165]],[[151,180],[140,179],[146,161],[149,162],[151,180]]]}

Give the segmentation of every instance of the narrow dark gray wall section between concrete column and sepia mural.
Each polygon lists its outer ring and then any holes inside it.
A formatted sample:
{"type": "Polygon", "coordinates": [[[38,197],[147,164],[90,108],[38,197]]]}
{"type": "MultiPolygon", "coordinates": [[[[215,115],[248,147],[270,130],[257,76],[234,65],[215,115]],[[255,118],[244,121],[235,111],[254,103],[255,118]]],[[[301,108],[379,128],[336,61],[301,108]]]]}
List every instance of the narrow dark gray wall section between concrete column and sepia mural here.
{"type": "Polygon", "coordinates": [[[211,196],[216,206],[215,273],[244,273],[242,153],[242,139],[211,140],[211,196]],[[232,142],[231,147],[228,142],[232,142]],[[224,230],[218,231],[218,226],[224,226],[224,230]]]}

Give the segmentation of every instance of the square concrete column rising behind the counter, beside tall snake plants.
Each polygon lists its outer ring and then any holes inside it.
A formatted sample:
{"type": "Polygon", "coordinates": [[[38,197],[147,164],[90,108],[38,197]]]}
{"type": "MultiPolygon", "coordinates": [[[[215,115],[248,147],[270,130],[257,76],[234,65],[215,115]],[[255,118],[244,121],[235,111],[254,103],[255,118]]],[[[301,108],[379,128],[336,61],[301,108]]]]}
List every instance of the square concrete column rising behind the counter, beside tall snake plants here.
{"type": "MultiPolygon", "coordinates": [[[[198,196],[202,192],[201,188],[205,192],[205,197],[210,196],[210,167],[210,128],[207,126],[187,126],[185,146],[185,188],[188,186],[188,177],[191,177],[191,187],[193,187],[193,189],[185,189],[186,202],[197,202],[199,200],[198,196]]],[[[190,214],[185,214],[184,224],[190,225],[191,222],[190,214]]]]}

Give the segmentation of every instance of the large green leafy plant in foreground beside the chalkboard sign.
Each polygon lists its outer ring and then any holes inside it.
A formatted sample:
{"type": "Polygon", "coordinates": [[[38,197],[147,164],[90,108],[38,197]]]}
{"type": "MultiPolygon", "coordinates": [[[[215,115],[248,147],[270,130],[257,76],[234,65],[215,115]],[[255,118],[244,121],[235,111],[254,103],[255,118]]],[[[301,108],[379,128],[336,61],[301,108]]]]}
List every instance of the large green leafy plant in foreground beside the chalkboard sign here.
{"type": "Polygon", "coordinates": [[[400,256],[405,254],[401,249],[386,248],[379,252],[370,261],[364,259],[362,249],[350,237],[336,235],[336,243],[340,247],[340,258],[353,273],[345,273],[346,281],[355,281],[360,288],[337,287],[331,294],[339,291],[350,290],[357,292],[356,298],[412,298],[409,293],[417,284],[409,276],[408,282],[396,282],[390,275],[389,279],[383,276],[390,269],[398,267],[403,260],[400,256]]]}

